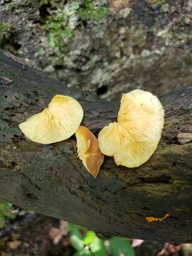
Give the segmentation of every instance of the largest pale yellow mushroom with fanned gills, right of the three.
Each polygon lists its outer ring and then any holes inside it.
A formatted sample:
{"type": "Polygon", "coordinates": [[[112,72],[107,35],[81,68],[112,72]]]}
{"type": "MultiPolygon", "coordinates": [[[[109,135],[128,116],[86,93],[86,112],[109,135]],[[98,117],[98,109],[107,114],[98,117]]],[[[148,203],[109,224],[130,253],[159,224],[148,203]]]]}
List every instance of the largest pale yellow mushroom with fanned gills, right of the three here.
{"type": "Polygon", "coordinates": [[[98,142],[102,154],[129,168],[146,162],[156,150],[164,127],[164,108],[151,92],[133,90],[122,96],[117,122],[104,127],[98,142]]]}

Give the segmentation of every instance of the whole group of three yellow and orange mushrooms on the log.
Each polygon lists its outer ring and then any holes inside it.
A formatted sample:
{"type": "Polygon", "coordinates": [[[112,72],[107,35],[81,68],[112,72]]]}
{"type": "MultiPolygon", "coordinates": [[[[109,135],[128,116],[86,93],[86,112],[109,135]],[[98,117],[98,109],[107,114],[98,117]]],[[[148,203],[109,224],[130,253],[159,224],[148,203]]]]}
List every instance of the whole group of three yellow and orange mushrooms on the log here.
{"type": "Polygon", "coordinates": [[[133,90],[122,96],[117,122],[104,127],[98,139],[80,126],[80,103],[65,95],[55,95],[48,108],[19,124],[33,142],[51,144],[75,134],[78,156],[92,176],[97,177],[104,155],[117,165],[129,168],[144,164],[156,150],[164,127],[164,108],[151,92],[133,90]]]}

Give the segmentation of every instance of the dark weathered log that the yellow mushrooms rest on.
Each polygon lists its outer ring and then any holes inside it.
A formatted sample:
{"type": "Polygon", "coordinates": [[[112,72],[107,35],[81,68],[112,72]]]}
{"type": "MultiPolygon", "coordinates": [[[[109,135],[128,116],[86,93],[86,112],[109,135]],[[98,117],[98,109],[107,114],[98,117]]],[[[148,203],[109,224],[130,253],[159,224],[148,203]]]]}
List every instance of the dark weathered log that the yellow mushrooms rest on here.
{"type": "Polygon", "coordinates": [[[154,155],[137,169],[105,157],[92,178],[77,157],[75,137],[41,145],[23,137],[18,124],[40,112],[55,94],[75,97],[82,124],[97,134],[114,121],[119,102],[70,89],[0,53],[0,197],[28,210],[69,220],[105,235],[175,242],[192,241],[192,85],[161,97],[166,119],[154,155]],[[161,222],[147,222],[170,213],[161,222]]]}

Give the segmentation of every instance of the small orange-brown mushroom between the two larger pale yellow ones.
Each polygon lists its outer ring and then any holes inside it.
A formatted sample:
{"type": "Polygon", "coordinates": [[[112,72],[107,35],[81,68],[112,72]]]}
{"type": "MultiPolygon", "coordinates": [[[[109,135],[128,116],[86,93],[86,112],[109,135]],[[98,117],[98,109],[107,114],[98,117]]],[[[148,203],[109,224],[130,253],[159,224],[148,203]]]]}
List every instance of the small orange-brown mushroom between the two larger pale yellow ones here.
{"type": "Polygon", "coordinates": [[[104,161],[97,138],[89,129],[83,126],[78,128],[75,136],[77,139],[78,156],[87,171],[96,178],[104,161]]]}

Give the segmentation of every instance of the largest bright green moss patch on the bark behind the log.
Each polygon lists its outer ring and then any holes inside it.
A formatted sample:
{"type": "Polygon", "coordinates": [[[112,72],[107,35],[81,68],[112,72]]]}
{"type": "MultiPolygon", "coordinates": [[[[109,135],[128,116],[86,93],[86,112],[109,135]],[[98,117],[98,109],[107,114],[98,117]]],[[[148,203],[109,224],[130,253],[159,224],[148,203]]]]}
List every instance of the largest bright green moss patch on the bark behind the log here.
{"type": "Polygon", "coordinates": [[[50,8],[48,11],[50,15],[42,25],[48,47],[51,54],[63,58],[75,28],[82,26],[81,21],[98,21],[106,15],[107,8],[96,6],[90,0],[82,0],[63,4],[59,9],[50,8]]]}

